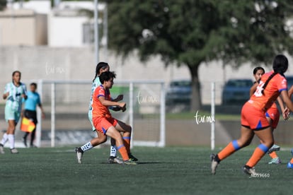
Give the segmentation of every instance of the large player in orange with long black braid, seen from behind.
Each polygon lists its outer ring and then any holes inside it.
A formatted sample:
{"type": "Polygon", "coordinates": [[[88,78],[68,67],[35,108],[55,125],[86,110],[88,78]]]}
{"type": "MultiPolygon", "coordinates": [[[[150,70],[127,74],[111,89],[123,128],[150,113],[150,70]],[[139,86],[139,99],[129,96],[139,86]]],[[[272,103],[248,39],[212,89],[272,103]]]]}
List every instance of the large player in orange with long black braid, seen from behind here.
{"type": "Polygon", "coordinates": [[[265,117],[265,112],[272,106],[272,103],[281,95],[289,110],[293,110],[293,102],[289,99],[287,91],[287,80],[284,76],[288,69],[288,59],[282,54],[275,57],[273,71],[265,73],[258,84],[255,93],[246,102],[241,110],[241,136],[239,139],[231,141],[217,155],[212,154],[211,170],[216,173],[219,162],[229,157],[245,146],[248,146],[253,136],[256,135],[261,143],[255,148],[251,158],[243,166],[243,172],[248,175],[256,175],[254,166],[268,152],[274,143],[272,127],[265,117]]]}

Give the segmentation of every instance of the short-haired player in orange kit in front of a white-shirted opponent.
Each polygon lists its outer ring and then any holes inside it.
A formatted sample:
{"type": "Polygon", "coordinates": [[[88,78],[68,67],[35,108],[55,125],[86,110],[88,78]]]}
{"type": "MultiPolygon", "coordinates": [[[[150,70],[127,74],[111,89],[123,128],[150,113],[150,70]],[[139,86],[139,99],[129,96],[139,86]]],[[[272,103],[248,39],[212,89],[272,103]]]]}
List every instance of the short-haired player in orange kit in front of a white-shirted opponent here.
{"type": "Polygon", "coordinates": [[[134,158],[130,153],[131,126],[113,118],[108,108],[115,107],[115,111],[122,110],[122,112],[126,110],[125,102],[111,100],[109,89],[112,88],[115,77],[115,73],[110,71],[100,74],[99,79],[102,85],[98,86],[94,91],[92,103],[93,125],[96,127],[97,134],[100,137],[93,138],[84,146],[76,148],[76,157],[79,163],[81,163],[81,158],[85,151],[104,143],[107,140],[107,136],[110,136],[115,139],[117,150],[122,155],[123,163],[127,165],[137,164],[134,162],[137,158],[134,158]]]}

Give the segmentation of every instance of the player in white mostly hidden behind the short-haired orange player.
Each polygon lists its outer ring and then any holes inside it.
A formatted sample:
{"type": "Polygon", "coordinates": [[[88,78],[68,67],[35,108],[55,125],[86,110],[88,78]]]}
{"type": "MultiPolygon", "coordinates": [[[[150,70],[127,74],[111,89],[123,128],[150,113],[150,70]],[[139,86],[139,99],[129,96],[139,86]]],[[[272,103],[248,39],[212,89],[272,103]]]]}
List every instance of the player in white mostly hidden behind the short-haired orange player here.
{"type": "MultiPolygon", "coordinates": [[[[93,83],[91,85],[91,100],[90,100],[89,107],[88,107],[88,119],[91,122],[93,131],[96,131],[96,127],[93,125],[93,115],[92,115],[92,107],[91,107],[91,105],[93,103],[93,92],[101,84],[100,79],[99,79],[100,74],[105,71],[109,71],[109,70],[110,70],[110,66],[108,63],[99,62],[96,66],[96,75],[95,75],[95,78],[93,78],[93,83]]],[[[118,95],[118,97],[115,99],[115,101],[120,101],[122,99],[123,99],[123,95],[118,95]]],[[[100,134],[99,131],[96,131],[96,132],[98,133],[98,138],[100,138],[100,139],[97,139],[97,141],[99,141],[100,143],[103,143],[104,135],[100,134]]],[[[117,152],[117,148],[115,146],[115,140],[111,138],[110,157],[108,158],[108,162],[110,164],[112,164],[112,163],[122,164],[122,160],[120,160],[119,158],[116,157],[116,152],[117,152]]]]}

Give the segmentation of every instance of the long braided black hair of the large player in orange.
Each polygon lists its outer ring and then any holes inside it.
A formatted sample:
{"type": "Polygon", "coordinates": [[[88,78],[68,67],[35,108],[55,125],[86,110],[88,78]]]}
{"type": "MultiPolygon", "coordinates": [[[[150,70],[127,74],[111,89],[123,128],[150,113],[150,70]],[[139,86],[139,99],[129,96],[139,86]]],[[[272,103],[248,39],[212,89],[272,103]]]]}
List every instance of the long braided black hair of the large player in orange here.
{"type": "Polygon", "coordinates": [[[277,73],[280,73],[280,75],[284,76],[285,71],[287,71],[287,69],[288,69],[287,57],[285,57],[285,55],[278,54],[274,59],[274,62],[272,64],[272,69],[274,70],[274,73],[272,73],[269,76],[268,80],[265,81],[265,85],[263,85],[262,93],[264,93],[263,91],[267,87],[267,85],[270,82],[270,80],[272,79],[272,77],[274,77],[277,73]]]}

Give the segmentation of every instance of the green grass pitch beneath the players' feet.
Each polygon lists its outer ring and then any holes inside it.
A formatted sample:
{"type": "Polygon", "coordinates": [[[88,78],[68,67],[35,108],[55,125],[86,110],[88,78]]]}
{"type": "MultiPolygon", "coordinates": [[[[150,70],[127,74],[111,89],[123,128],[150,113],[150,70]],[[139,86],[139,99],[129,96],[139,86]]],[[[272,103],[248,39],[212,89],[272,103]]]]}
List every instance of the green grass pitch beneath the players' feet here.
{"type": "MultiPolygon", "coordinates": [[[[109,147],[84,153],[76,162],[74,147],[19,148],[0,155],[0,194],[291,194],[289,150],[278,152],[281,165],[265,155],[255,167],[266,177],[251,178],[241,167],[253,148],[243,148],[210,173],[209,148],[134,147],[138,165],[107,164],[109,147]]],[[[219,149],[215,150],[217,152],[219,149]]]]}

